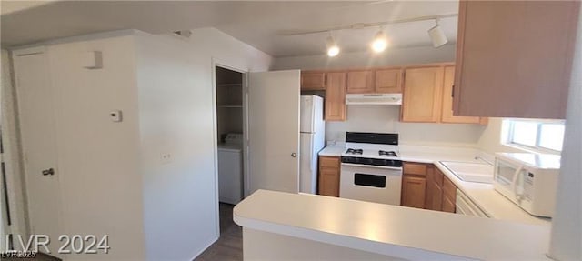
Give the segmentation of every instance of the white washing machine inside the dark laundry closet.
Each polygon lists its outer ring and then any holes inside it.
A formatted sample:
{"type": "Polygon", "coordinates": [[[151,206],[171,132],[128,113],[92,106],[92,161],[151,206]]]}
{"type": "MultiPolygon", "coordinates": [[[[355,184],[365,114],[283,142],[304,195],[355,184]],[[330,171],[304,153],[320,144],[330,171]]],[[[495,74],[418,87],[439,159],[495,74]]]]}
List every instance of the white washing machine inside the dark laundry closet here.
{"type": "Polygon", "coordinates": [[[236,205],[243,199],[242,135],[228,134],[218,145],[218,199],[236,205]]]}

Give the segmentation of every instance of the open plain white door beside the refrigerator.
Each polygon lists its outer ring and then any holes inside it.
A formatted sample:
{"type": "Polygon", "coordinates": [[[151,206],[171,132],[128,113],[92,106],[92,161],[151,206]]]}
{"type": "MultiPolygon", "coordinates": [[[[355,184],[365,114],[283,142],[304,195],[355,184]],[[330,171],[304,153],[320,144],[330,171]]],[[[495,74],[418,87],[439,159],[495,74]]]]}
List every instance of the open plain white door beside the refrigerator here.
{"type": "Polygon", "coordinates": [[[248,188],[299,191],[300,72],[249,73],[248,188]]]}

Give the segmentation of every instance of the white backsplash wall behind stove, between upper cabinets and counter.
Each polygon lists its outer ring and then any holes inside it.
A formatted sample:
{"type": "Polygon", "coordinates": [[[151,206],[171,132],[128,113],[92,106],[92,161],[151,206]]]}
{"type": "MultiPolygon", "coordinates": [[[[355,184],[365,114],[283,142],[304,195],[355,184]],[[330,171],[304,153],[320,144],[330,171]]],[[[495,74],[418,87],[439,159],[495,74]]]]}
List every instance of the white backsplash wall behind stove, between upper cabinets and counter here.
{"type": "Polygon", "coordinates": [[[345,141],[346,131],[396,132],[400,143],[426,146],[475,146],[482,125],[399,122],[399,105],[347,105],[347,121],[327,122],[326,140],[345,141]]]}

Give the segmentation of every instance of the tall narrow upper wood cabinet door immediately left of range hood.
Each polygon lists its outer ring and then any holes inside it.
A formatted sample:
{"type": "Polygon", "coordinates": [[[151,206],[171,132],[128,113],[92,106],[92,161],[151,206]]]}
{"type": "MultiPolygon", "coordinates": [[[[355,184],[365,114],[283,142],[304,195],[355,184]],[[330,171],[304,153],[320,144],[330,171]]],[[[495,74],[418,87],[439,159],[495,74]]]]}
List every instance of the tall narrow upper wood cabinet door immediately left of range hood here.
{"type": "Polygon", "coordinates": [[[326,121],[346,120],[346,73],[326,74],[326,121]]]}

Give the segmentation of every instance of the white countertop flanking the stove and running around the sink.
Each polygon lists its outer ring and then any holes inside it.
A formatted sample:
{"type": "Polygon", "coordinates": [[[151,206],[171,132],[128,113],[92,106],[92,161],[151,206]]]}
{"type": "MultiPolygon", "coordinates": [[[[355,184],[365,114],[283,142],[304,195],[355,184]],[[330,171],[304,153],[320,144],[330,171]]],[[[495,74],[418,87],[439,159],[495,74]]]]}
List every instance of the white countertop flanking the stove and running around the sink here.
{"type": "MultiPolygon", "coordinates": [[[[345,146],[326,146],[319,156],[341,156],[345,146]]],[[[492,156],[468,147],[400,146],[403,161],[434,164],[487,216],[527,224],[550,226],[551,219],[531,216],[526,211],[499,194],[492,185],[460,180],[439,161],[475,162],[475,156],[484,156],[490,161],[492,156]]],[[[482,163],[482,162],[481,162],[482,163]]]]}

